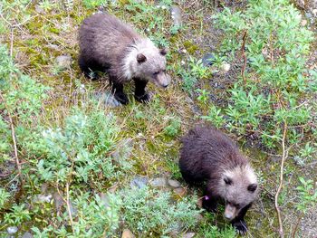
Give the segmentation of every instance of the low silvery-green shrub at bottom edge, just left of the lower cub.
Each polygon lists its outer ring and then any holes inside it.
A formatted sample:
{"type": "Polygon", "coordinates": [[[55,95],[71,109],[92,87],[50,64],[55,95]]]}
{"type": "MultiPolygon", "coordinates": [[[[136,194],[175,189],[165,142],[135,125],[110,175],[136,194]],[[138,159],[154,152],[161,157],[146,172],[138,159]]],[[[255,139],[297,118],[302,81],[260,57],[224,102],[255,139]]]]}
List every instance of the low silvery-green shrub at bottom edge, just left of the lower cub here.
{"type": "Polygon", "coordinates": [[[174,204],[171,194],[149,187],[122,192],[123,220],[135,233],[167,235],[197,224],[196,199],[174,204]]]}

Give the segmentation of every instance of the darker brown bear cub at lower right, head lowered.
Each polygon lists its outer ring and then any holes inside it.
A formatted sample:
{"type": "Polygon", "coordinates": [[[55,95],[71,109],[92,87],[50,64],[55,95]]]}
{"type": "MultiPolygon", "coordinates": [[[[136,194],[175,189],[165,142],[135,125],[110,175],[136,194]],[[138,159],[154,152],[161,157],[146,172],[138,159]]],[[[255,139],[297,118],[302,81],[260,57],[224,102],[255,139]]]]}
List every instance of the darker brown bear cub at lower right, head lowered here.
{"type": "Polygon", "coordinates": [[[226,219],[236,231],[245,234],[245,214],[258,193],[257,180],[235,143],[221,131],[198,126],[182,138],[179,168],[191,185],[207,182],[203,207],[215,212],[219,200],[225,201],[226,219]]]}

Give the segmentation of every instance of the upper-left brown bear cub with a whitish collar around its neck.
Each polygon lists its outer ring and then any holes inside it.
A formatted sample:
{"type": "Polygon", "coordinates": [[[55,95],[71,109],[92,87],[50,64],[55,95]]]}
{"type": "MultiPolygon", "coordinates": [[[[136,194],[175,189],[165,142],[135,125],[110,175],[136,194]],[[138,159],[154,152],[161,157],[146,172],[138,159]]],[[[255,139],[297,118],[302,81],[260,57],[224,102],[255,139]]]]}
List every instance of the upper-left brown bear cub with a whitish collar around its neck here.
{"type": "Polygon", "coordinates": [[[79,42],[79,65],[84,74],[90,77],[94,71],[107,71],[114,97],[122,104],[129,102],[123,92],[127,81],[135,82],[134,97],[141,102],[149,101],[145,90],[148,81],[162,88],[168,86],[167,52],[110,14],[86,18],[79,31],[79,42]]]}

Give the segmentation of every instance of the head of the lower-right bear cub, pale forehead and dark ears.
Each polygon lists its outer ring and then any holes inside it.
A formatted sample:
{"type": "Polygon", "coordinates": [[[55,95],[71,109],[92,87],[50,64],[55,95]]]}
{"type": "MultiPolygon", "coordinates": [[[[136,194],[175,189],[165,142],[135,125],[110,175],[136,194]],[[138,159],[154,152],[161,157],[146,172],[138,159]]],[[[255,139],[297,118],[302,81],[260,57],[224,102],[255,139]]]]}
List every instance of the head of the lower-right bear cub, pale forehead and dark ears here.
{"type": "Polygon", "coordinates": [[[255,172],[250,166],[226,170],[221,180],[221,193],[225,199],[225,218],[233,220],[240,211],[251,205],[258,193],[255,172]]]}

